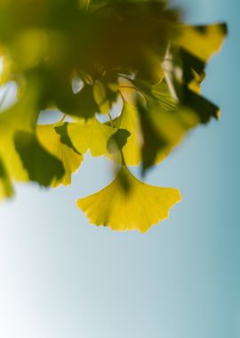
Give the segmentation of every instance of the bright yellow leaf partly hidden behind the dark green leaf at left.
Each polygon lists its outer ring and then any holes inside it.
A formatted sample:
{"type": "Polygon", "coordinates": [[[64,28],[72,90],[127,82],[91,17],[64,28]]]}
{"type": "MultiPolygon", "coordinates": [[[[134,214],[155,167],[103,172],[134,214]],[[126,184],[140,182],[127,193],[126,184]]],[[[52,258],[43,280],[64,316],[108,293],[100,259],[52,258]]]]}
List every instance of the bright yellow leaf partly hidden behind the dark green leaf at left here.
{"type": "MultiPolygon", "coordinates": [[[[36,137],[42,147],[47,150],[52,156],[60,159],[65,169],[65,174],[60,178],[59,181],[53,183],[54,187],[57,187],[62,183],[65,186],[71,184],[71,175],[81,165],[84,157],[76,149],[62,143],[60,141],[60,135],[56,132],[55,128],[61,128],[62,133],[64,132],[66,124],[59,123],[53,125],[37,125],[36,137]]],[[[65,138],[68,134],[65,131],[65,138]]]]}

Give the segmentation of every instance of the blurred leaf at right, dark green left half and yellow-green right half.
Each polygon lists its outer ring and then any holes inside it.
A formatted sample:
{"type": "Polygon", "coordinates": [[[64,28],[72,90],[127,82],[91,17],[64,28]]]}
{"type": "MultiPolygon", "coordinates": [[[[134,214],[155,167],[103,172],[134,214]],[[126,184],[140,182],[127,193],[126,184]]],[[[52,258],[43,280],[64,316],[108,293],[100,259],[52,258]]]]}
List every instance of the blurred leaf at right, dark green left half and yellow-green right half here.
{"type": "Polygon", "coordinates": [[[141,149],[142,173],[169,155],[188,130],[200,122],[197,114],[191,109],[179,107],[166,110],[149,97],[146,101],[147,106],[139,106],[144,139],[141,149]]]}

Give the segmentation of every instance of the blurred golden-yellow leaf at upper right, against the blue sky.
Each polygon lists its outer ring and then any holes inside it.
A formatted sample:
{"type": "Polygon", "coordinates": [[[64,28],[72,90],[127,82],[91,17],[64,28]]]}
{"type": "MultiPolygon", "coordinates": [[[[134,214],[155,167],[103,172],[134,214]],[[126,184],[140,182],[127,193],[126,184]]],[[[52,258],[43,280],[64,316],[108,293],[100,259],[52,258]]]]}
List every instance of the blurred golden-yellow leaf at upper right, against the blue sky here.
{"type": "Polygon", "coordinates": [[[207,61],[216,52],[227,35],[226,24],[215,24],[209,26],[187,26],[180,27],[180,36],[177,44],[180,44],[188,52],[197,58],[207,61]]]}

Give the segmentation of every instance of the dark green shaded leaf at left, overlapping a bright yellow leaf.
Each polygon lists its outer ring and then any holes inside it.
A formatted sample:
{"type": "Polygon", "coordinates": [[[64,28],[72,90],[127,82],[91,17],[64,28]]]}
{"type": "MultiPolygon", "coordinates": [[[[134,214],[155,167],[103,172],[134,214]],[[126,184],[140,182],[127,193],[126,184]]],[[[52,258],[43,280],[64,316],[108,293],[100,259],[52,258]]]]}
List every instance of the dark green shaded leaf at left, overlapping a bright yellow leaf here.
{"type": "Polygon", "coordinates": [[[17,131],[14,133],[14,143],[30,181],[49,187],[61,180],[65,174],[62,163],[44,150],[34,133],[17,131]]]}

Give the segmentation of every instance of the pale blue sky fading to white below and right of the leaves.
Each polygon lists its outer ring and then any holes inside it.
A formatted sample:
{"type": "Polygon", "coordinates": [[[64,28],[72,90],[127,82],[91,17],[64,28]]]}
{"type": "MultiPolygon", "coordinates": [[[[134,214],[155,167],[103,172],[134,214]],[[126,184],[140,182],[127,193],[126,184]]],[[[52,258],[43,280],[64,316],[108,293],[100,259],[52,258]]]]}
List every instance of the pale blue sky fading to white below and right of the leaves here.
{"type": "Polygon", "coordinates": [[[0,205],[1,338],[240,337],[237,0],[182,0],[193,23],[228,22],[204,93],[222,110],[147,177],[183,202],[147,234],[89,225],[79,197],[109,181],[87,157],[69,189],[17,186],[0,205]]]}

